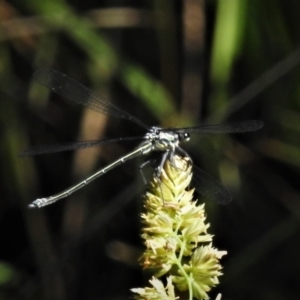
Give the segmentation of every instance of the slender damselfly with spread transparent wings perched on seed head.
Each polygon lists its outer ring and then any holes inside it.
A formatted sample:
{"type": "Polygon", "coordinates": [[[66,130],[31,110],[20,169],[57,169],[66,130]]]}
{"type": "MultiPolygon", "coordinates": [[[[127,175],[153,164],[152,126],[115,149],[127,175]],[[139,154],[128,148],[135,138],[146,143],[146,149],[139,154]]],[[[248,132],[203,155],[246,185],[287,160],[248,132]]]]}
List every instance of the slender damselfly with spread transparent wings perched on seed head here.
{"type": "MultiPolygon", "coordinates": [[[[133,117],[129,113],[121,110],[110,101],[96,95],[90,89],[62,74],[58,71],[43,69],[38,70],[33,75],[34,79],[43,86],[49,88],[60,96],[75,102],[82,104],[83,106],[93,109],[102,114],[108,116],[123,118],[135,122],[139,126],[147,130],[146,134],[141,137],[121,137],[118,139],[104,139],[97,141],[83,141],[74,143],[57,144],[50,146],[35,146],[28,150],[25,150],[22,155],[37,155],[45,153],[54,153],[66,150],[83,149],[92,146],[98,146],[105,143],[117,142],[117,141],[141,141],[140,145],[130,153],[122,156],[116,161],[112,162],[108,166],[97,171],[95,174],[84,179],[78,184],[67,188],[66,190],[46,198],[39,198],[33,201],[29,207],[43,207],[48,204],[54,203],[59,199],[65,198],[80,188],[84,187],[94,179],[107,173],[116,166],[133,159],[138,156],[147,155],[153,152],[162,153],[161,163],[157,168],[157,175],[161,173],[164,162],[171,158],[172,155],[178,153],[182,156],[188,156],[188,154],[179,146],[181,142],[188,141],[190,134],[199,133],[240,133],[256,131],[263,127],[263,122],[258,120],[248,120],[243,122],[233,122],[217,125],[205,125],[187,128],[161,128],[157,126],[148,127],[139,119],[133,117]]],[[[211,198],[220,204],[227,204],[232,199],[230,193],[210,175],[206,174],[199,168],[194,170],[195,177],[198,181],[197,190],[200,194],[206,198],[211,198]]]]}

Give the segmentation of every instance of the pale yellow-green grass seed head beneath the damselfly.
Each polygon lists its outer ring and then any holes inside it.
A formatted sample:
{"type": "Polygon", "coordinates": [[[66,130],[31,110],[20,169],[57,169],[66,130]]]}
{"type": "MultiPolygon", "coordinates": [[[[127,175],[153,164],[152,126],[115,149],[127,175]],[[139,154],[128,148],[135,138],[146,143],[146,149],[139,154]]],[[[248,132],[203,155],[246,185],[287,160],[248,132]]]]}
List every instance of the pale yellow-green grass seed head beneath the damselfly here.
{"type": "Polygon", "coordinates": [[[171,274],[167,286],[157,278],[152,287],[133,289],[136,299],[176,299],[174,286],[188,291],[190,299],[208,299],[207,292],[219,283],[219,259],[226,254],[207,244],[204,204],[193,200],[192,164],[188,158],[173,155],[167,160],[160,178],[150,183],[145,196],[142,238],[146,250],[141,257],[145,269],[156,277],[171,274]]]}

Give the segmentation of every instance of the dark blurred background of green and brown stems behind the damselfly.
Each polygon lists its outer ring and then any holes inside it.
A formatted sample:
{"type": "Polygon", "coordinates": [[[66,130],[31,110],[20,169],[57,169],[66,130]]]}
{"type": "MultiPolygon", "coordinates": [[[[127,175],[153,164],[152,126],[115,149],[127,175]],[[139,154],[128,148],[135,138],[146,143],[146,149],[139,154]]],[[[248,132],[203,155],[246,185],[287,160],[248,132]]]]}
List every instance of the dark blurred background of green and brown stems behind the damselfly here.
{"type": "Polygon", "coordinates": [[[193,136],[185,147],[234,196],[228,206],[202,199],[214,246],[228,251],[210,295],[299,299],[299,15],[296,0],[0,1],[0,299],[128,299],[149,279],[137,262],[142,160],[27,208],[136,143],[22,150],[144,133],[50,93],[32,80],[40,68],[149,125],[264,121],[256,133],[193,136]]]}

